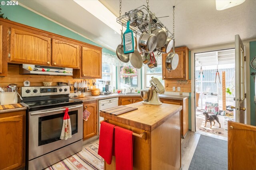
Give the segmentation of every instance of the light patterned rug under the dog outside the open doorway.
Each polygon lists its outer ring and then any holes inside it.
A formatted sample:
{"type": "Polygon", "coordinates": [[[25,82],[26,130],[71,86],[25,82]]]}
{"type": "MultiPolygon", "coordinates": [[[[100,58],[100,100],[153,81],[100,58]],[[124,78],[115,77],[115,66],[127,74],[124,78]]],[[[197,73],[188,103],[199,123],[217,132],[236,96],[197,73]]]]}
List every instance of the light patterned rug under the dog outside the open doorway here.
{"type": "MultiPolygon", "coordinates": [[[[212,124],[212,129],[210,129],[210,123],[206,123],[205,125],[205,117],[202,114],[203,112],[196,111],[196,131],[202,131],[206,133],[211,133],[215,135],[220,135],[223,137],[228,137],[228,121],[234,121],[234,118],[228,117],[228,116],[222,116],[218,115],[221,128],[219,127],[219,124],[217,121],[215,121],[215,125],[212,124]]],[[[212,115],[212,114],[209,114],[212,115]]]]}

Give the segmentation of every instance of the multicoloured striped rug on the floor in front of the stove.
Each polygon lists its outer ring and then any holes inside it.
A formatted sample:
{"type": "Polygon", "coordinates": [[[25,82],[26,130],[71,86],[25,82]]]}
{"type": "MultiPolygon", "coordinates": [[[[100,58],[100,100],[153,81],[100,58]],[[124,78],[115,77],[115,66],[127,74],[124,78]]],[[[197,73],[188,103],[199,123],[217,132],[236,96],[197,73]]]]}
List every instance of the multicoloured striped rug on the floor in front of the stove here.
{"type": "Polygon", "coordinates": [[[99,142],[84,148],[81,152],[74,154],[45,170],[103,170],[104,162],[98,155],[99,142]]]}

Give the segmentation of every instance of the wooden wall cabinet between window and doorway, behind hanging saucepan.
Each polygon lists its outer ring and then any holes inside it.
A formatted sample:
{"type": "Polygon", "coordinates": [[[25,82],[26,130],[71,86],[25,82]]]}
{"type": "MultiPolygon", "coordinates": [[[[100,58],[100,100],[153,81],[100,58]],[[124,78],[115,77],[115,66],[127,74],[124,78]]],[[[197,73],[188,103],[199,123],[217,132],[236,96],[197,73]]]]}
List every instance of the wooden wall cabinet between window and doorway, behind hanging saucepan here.
{"type": "MultiPolygon", "coordinates": [[[[179,63],[175,70],[168,72],[165,61],[168,54],[162,54],[162,78],[163,80],[188,80],[188,47],[175,48],[179,56],[179,63]]],[[[172,51],[171,51],[172,52],[172,51]]]]}

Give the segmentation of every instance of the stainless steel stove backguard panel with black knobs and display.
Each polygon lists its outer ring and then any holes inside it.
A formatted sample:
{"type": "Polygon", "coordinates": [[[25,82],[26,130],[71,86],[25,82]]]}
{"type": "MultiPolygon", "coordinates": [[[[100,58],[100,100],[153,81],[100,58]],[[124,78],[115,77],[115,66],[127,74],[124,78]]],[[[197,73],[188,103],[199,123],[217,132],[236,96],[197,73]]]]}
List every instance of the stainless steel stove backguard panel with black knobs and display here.
{"type": "Polygon", "coordinates": [[[70,94],[69,86],[21,87],[22,97],[70,94]]]}

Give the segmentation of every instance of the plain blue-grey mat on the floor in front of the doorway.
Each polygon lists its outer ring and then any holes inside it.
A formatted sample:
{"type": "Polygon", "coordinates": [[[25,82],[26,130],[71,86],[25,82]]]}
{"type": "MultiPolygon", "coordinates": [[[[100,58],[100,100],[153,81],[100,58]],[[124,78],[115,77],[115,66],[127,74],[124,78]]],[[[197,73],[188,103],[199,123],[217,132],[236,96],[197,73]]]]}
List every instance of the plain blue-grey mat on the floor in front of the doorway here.
{"type": "Polygon", "coordinates": [[[227,170],[228,142],[201,135],[188,170],[227,170]]]}

